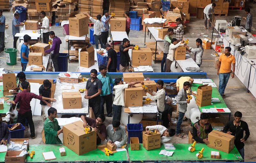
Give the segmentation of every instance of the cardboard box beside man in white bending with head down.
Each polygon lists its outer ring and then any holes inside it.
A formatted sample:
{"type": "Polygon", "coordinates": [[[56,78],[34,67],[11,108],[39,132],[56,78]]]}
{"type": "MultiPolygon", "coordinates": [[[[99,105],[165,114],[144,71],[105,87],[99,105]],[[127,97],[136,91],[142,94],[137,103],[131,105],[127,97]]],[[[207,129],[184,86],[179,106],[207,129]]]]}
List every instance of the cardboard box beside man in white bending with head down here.
{"type": "Polygon", "coordinates": [[[142,146],[146,150],[160,148],[160,139],[161,135],[159,132],[150,135],[146,134],[146,132],[142,132],[142,146]]]}

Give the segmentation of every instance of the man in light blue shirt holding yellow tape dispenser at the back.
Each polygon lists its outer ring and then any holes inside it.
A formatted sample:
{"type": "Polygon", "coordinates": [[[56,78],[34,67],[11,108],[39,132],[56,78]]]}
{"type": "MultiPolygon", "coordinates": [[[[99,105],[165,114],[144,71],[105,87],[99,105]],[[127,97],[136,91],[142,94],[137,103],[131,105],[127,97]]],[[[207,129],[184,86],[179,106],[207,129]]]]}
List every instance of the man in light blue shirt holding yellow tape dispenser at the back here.
{"type": "Polygon", "coordinates": [[[107,40],[108,40],[108,32],[109,32],[108,22],[112,17],[108,15],[108,10],[104,10],[103,14],[104,15],[101,17],[101,22],[104,28],[106,29],[106,31],[104,29],[101,29],[101,36],[102,36],[101,38],[102,38],[103,45],[105,46],[107,45],[107,40]]]}

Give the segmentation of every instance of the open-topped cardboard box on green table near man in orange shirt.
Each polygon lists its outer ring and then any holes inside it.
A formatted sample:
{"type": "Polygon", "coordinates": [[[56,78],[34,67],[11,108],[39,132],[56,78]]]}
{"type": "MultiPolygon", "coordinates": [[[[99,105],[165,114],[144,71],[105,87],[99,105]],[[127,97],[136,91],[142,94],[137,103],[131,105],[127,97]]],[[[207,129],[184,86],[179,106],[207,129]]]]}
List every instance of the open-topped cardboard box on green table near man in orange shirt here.
{"type": "Polygon", "coordinates": [[[196,91],[196,104],[200,107],[211,105],[212,86],[208,84],[200,85],[196,91]]]}

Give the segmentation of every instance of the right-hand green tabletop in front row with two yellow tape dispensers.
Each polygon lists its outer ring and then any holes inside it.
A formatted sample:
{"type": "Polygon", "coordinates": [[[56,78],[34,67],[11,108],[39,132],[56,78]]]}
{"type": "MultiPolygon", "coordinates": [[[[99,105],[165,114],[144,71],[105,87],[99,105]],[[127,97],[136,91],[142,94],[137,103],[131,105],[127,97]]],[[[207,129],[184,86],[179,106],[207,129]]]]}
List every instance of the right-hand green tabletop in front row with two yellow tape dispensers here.
{"type": "Polygon", "coordinates": [[[175,162],[175,161],[179,161],[179,162],[186,162],[186,161],[190,161],[190,162],[203,162],[203,161],[223,161],[225,160],[226,162],[228,161],[243,161],[241,155],[239,154],[239,152],[237,151],[236,147],[229,153],[225,153],[225,152],[220,152],[220,159],[211,159],[211,151],[218,151],[216,149],[207,147],[206,144],[201,144],[201,143],[197,143],[196,144],[196,151],[195,152],[189,152],[188,151],[188,147],[191,144],[174,144],[176,150],[167,150],[167,151],[174,151],[174,153],[172,154],[172,156],[164,156],[162,154],[159,154],[159,152],[161,150],[164,149],[164,145],[161,144],[160,148],[157,149],[152,149],[147,151],[144,147],[142,147],[142,144],[140,144],[140,150],[138,151],[131,151],[131,148],[128,148],[128,153],[129,153],[129,158],[130,161],[135,162],[154,162],[154,161],[161,161],[161,162],[175,162]],[[204,148],[204,152],[203,152],[203,158],[198,159],[196,157],[196,153],[198,153],[202,148],[204,148]]]}

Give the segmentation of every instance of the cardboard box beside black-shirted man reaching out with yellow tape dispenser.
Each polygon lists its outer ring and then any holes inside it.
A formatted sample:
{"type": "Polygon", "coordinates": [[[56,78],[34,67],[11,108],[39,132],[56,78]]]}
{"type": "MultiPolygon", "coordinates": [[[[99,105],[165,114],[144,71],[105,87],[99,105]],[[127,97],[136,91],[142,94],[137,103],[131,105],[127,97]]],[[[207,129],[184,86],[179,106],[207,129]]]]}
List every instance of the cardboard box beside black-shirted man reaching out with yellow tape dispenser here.
{"type": "Polygon", "coordinates": [[[140,50],[132,50],[132,66],[151,65],[152,51],[150,48],[140,48],[140,50]]]}

